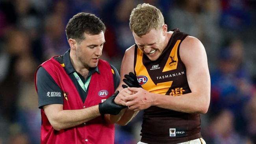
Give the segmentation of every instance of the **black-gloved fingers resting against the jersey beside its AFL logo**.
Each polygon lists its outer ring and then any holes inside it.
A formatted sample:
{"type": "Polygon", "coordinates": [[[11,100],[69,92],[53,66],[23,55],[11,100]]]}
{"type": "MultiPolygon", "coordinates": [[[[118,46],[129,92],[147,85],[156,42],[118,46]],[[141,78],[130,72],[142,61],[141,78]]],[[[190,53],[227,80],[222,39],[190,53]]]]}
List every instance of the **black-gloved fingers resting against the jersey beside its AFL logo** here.
{"type": "Polygon", "coordinates": [[[141,87],[141,85],[139,85],[139,82],[137,81],[137,77],[135,76],[134,73],[129,72],[129,75],[125,74],[124,78],[125,79],[122,79],[122,81],[124,81],[124,83],[126,83],[126,85],[122,85],[123,88],[127,88],[127,87],[141,87]]]}

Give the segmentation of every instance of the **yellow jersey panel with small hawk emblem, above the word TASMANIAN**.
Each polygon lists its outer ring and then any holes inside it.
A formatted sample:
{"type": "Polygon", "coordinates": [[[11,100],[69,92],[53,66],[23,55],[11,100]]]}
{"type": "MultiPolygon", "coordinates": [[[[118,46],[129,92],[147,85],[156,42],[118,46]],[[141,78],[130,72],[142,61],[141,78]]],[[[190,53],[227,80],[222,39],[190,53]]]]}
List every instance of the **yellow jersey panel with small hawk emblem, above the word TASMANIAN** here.
{"type": "Polygon", "coordinates": [[[163,72],[167,72],[169,70],[175,70],[177,68],[179,44],[180,44],[180,40],[178,40],[174,45],[173,50],[171,51],[171,54],[169,55],[169,58],[165,64],[165,67],[163,68],[163,72]]]}

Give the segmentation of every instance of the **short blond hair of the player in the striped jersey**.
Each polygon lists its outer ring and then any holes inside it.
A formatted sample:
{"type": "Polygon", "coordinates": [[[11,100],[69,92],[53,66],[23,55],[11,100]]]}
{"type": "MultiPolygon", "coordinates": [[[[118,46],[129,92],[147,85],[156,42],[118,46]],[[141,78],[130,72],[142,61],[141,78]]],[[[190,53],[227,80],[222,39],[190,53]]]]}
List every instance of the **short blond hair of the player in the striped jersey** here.
{"type": "Polygon", "coordinates": [[[161,28],[164,18],[161,11],[150,4],[138,4],[130,15],[130,29],[141,37],[150,30],[161,28]]]}

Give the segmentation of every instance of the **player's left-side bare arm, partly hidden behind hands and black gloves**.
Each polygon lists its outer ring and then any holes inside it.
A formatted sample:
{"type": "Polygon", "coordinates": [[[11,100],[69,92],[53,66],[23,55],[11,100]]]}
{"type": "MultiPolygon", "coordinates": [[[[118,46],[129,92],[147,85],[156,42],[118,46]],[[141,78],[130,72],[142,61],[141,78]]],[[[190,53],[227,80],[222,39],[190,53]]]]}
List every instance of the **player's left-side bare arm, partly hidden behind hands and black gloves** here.
{"type": "MultiPolygon", "coordinates": [[[[125,85],[125,83],[122,81],[122,79],[124,79],[124,75],[125,74],[129,74],[129,72],[133,72],[134,73],[134,46],[131,46],[130,48],[128,48],[124,54],[124,57],[122,59],[122,65],[121,65],[121,81],[119,86],[117,87],[117,90],[120,91],[119,95],[117,95],[117,97],[115,98],[115,103],[120,104],[120,105],[125,105],[126,101],[124,101],[124,97],[128,96],[130,94],[132,94],[131,92],[129,92],[129,90],[122,88],[122,85],[125,85]]],[[[130,122],[130,120],[132,120],[132,118],[134,118],[134,116],[137,114],[138,112],[132,111],[128,108],[124,109],[121,111],[121,119],[117,122],[117,124],[124,126],[126,125],[128,122],[130,122]]]]}

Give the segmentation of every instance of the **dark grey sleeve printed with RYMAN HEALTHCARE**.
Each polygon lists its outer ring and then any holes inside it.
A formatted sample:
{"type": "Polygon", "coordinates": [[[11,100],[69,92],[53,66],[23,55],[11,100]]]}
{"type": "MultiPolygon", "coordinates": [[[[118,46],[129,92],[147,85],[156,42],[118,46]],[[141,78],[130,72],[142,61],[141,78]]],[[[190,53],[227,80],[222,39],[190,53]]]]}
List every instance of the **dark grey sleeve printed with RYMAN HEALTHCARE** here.
{"type": "Polygon", "coordinates": [[[52,76],[42,66],[37,70],[38,107],[63,104],[63,93],[52,76]]]}

